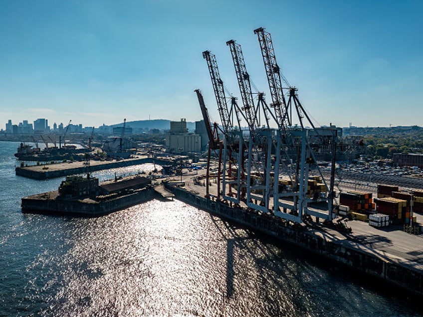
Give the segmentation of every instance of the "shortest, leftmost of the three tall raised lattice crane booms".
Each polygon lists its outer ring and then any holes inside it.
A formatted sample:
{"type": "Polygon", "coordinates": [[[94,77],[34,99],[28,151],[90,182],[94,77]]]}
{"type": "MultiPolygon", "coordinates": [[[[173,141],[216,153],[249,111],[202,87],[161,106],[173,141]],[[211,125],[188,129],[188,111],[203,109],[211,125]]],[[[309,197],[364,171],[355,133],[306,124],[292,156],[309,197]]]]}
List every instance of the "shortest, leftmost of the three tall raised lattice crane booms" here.
{"type": "Polygon", "coordinates": [[[216,97],[217,102],[217,109],[219,111],[223,131],[226,134],[229,130],[233,128],[233,125],[230,121],[229,111],[227,110],[227,101],[224,93],[223,81],[220,79],[219,69],[217,68],[216,56],[210,51],[204,51],[203,58],[206,59],[207,65],[209,66],[210,77],[212,79],[214,95],[216,97]]]}

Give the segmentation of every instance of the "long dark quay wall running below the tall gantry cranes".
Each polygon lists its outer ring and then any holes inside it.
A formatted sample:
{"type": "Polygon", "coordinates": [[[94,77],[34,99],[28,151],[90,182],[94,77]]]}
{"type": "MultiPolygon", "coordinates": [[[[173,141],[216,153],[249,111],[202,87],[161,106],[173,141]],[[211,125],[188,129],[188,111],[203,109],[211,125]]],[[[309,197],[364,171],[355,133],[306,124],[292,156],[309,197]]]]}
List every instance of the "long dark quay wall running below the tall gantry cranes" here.
{"type": "Polygon", "coordinates": [[[251,230],[289,242],[303,249],[319,254],[336,262],[349,266],[361,273],[376,277],[389,284],[412,291],[415,295],[423,295],[423,272],[407,266],[400,260],[395,261],[382,257],[374,250],[349,240],[325,238],[312,228],[298,228],[274,216],[257,214],[247,209],[230,207],[198,196],[186,189],[165,183],[165,188],[172,191],[175,197],[190,205],[209,211],[226,220],[234,221],[251,230]]]}

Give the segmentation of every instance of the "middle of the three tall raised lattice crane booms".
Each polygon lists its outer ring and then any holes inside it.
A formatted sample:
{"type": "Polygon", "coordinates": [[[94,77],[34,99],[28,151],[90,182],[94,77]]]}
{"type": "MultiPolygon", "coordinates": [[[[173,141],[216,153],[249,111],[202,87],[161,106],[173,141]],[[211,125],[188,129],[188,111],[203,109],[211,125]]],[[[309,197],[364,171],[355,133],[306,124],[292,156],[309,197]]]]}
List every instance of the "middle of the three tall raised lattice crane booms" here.
{"type": "Polygon", "coordinates": [[[259,126],[254,111],[254,101],[251,92],[251,83],[247,73],[244,56],[242,55],[241,45],[229,40],[226,45],[230,48],[232,54],[233,65],[235,67],[236,78],[238,79],[239,91],[242,97],[242,110],[245,112],[248,128],[251,134],[254,134],[254,128],[259,126]]]}

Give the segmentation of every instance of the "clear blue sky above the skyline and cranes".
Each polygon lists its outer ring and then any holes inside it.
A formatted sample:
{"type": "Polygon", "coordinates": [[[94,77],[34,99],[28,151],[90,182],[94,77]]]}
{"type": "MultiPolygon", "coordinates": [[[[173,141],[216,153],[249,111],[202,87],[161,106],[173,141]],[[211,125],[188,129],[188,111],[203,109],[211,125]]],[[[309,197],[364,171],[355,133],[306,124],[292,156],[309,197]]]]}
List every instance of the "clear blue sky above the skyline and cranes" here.
{"type": "Polygon", "coordinates": [[[420,0],[1,0],[0,127],[195,121],[197,88],[218,120],[202,51],[239,97],[228,39],[270,102],[260,26],[315,124],[423,126],[422,16],[420,0]]]}

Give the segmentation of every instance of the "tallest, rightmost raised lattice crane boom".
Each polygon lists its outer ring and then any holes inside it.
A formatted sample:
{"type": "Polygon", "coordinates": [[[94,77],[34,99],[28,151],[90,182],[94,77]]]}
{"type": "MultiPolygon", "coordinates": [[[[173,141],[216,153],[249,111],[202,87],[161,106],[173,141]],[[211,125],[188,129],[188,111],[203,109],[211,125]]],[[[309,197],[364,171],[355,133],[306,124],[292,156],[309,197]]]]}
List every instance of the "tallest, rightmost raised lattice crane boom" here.
{"type": "Polygon", "coordinates": [[[282,91],[280,68],[276,62],[272,38],[270,33],[266,32],[263,27],[255,29],[254,33],[258,36],[267,81],[269,83],[270,95],[272,97],[272,104],[270,106],[274,108],[279,129],[285,131],[286,128],[291,125],[291,122],[285,102],[285,96],[282,91]]]}

